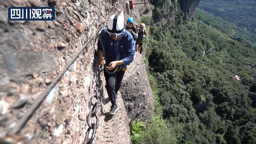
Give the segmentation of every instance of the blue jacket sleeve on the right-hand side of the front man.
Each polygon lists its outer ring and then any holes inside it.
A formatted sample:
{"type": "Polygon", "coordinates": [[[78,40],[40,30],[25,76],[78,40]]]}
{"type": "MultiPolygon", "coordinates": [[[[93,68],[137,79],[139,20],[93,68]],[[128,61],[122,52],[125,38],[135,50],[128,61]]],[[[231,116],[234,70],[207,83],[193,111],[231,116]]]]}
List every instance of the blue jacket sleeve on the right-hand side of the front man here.
{"type": "Polygon", "coordinates": [[[134,44],[134,40],[132,38],[132,35],[130,34],[130,36],[128,37],[126,46],[125,46],[126,57],[122,59],[123,62],[124,62],[124,65],[128,65],[133,61],[134,52],[135,52],[135,44],[134,44]]]}

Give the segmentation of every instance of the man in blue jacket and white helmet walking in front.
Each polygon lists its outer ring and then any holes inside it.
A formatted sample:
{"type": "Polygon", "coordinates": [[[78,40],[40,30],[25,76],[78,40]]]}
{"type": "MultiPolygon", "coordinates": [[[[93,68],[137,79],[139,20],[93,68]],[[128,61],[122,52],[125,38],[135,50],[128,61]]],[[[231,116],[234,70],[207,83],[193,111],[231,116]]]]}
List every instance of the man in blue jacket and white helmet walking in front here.
{"type": "Polygon", "coordinates": [[[98,66],[104,64],[104,76],[108,97],[112,103],[110,114],[119,110],[116,100],[127,65],[134,59],[135,44],[130,32],[124,29],[124,17],[112,15],[108,28],[104,28],[98,40],[98,66]]]}

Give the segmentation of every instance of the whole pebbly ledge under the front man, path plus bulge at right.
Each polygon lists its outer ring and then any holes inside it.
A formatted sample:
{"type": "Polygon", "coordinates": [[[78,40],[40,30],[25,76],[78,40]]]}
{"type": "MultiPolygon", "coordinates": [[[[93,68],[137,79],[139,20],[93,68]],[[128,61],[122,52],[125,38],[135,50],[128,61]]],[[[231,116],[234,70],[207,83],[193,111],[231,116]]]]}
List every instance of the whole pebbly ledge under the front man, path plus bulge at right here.
{"type": "Polygon", "coordinates": [[[118,97],[117,104],[120,109],[115,115],[108,114],[111,102],[104,88],[95,144],[130,144],[129,123],[139,118],[150,122],[154,101],[141,54],[136,53],[134,61],[128,65],[118,97]]]}

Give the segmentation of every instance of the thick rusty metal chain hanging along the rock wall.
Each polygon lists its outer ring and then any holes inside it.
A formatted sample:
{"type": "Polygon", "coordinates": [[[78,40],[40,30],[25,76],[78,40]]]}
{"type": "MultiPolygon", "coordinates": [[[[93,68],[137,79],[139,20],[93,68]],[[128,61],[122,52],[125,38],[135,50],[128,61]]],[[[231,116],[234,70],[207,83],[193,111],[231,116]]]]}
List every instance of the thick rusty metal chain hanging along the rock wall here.
{"type": "Polygon", "coordinates": [[[88,129],[84,138],[84,143],[83,144],[92,144],[92,141],[94,140],[95,134],[96,134],[96,129],[99,126],[99,116],[97,115],[98,112],[98,108],[102,105],[102,97],[100,96],[100,91],[103,88],[103,82],[101,80],[101,75],[103,74],[103,68],[102,66],[98,66],[98,72],[97,72],[97,76],[96,76],[96,85],[94,86],[94,92],[95,95],[92,96],[91,98],[91,105],[92,110],[91,112],[89,112],[86,120],[87,120],[87,125],[88,125],[88,129]],[[93,102],[93,99],[96,99],[96,102],[93,102]],[[91,124],[91,118],[96,117],[96,123],[91,124]],[[92,130],[92,136],[91,138],[89,138],[89,133],[92,130]]]}

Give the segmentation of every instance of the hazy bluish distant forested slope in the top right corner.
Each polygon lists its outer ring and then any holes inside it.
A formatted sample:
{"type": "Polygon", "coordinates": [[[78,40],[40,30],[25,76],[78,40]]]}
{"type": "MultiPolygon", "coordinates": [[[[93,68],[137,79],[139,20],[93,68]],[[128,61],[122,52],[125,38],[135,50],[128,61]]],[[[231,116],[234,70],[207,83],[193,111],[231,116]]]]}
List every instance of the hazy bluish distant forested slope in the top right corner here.
{"type": "Polygon", "coordinates": [[[256,35],[255,0],[201,0],[199,8],[256,35]]]}

